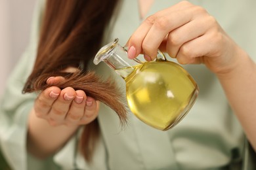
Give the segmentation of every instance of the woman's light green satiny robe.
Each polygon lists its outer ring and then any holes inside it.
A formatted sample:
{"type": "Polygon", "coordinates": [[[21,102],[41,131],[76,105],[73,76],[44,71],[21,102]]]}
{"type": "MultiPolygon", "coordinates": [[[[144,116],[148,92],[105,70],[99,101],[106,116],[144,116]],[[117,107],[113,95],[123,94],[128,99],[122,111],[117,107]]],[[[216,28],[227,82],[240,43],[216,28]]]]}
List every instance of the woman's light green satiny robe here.
{"type": "MultiPolygon", "coordinates": [[[[177,2],[156,0],[148,15],[177,2]]],[[[190,2],[205,7],[230,37],[256,60],[255,0],[190,2]]],[[[116,22],[106,30],[108,36],[103,44],[119,38],[119,44],[124,45],[140,25],[138,9],[137,0],[124,0],[116,22]]],[[[37,9],[37,13],[41,14],[40,11],[37,9]]],[[[0,147],[13,169],[55,169],[54,165],[62,169],[100,170],[221,169],[240,159],[244,144],[242,128],[228,105],[221,84],[204,65],[184,65],[198,83],[200,94],[187,116],[169,131],[147,126],[131,113],[128,125],[122,130],[116,113],[102,104],[98,116],[101,137],[92,165],[79,153],[75,154],[79,135],[70,139],[53,160],[39,161],[29,156],[26,152],[27,119],[36,95],[23,95],[21,91],[35,60],[40,17],[35,14],[30,45],[10,76],[1,101],[0,147]]],[[[125,93],[123,79],[104,63],[90,67],[99,75],[115,78],[125,93]]]]}

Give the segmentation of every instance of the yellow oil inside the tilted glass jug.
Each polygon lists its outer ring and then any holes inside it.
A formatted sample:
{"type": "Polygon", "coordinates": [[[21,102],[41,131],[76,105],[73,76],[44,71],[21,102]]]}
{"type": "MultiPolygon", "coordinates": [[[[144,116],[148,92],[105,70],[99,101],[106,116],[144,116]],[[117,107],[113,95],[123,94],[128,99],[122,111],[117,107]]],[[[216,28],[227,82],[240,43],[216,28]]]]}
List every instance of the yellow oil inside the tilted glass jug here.
{"type": "Polygon", "coordinates": [[[127,101],[142,122],[167,130],[190,110],[198,95],[194,79],[177,63],[152,61],[116,70],[126,77],[127,101]]]}

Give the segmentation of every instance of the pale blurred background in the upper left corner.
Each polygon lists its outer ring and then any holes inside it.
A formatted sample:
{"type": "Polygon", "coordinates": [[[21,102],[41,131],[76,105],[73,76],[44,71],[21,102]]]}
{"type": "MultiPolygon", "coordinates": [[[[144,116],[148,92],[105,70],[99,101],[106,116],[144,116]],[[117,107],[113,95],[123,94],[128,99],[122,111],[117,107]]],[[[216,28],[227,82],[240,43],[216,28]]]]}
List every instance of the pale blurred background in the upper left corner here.
{"type": "Polygon", "coordinates": [[[30,37],[37,0],[0,0],[0,95],[30,37]]]}

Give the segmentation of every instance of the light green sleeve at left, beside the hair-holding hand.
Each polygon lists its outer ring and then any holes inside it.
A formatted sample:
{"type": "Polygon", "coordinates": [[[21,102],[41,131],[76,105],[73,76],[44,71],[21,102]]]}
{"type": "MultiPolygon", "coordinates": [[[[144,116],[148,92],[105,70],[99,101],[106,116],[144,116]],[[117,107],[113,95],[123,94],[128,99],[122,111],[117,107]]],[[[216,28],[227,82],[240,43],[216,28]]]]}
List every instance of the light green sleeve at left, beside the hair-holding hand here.
{"type": "Polygon", "coordinates": [[[33,15],[30,43],[9,76],[1,97],[0,149],[11,169],[28,169],[29,167],[30,156],[26,151],[27,120],[36,95],[33,93],[22,94],[22,88],[35,61],[43,8],[44,0],[39,0],[33,15]]]}

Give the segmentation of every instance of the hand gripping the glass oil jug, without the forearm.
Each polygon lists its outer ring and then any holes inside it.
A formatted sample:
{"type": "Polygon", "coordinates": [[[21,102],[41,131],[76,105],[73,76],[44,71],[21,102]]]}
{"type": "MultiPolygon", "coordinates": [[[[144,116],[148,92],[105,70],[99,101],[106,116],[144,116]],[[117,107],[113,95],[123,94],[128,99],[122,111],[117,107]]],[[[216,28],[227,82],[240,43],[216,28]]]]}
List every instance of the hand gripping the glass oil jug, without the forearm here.
{"type": "Polygon", "coordinates": [[[149,16],[133,33],[129,58],[156,58],[160,48],[181,64],[204,63],[213,73],[226,73],[238,64],[241,49],[205,9],[182,1],[149,16]]]}

